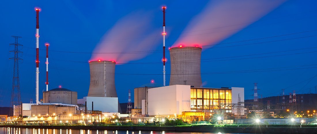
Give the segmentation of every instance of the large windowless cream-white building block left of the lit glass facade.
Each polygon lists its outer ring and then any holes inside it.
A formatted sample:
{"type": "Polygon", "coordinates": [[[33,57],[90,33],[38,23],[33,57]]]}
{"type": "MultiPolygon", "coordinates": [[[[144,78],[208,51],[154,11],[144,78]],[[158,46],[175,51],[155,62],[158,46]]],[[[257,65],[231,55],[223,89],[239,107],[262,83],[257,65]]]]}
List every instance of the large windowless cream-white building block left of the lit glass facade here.
{"type": "Polygon", "coordinates": [[[148,115],[180,115],[189,112],[191,88],[172,85],[148,89],[148,115]]]}

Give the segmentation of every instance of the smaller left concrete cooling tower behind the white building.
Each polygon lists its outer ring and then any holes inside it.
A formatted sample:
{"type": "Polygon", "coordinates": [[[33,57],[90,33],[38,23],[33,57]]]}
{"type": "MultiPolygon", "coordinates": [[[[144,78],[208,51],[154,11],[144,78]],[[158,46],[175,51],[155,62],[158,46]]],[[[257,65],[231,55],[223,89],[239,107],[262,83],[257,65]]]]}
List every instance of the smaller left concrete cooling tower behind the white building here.
{"type": "MultiPolygon", "coordinates": [[[[118,97],[114,83],[115,64],[114,61],[89,61],[88,97],[118,97]]],[[[118,106],[121,111],[120,105],[118,106]]]]}

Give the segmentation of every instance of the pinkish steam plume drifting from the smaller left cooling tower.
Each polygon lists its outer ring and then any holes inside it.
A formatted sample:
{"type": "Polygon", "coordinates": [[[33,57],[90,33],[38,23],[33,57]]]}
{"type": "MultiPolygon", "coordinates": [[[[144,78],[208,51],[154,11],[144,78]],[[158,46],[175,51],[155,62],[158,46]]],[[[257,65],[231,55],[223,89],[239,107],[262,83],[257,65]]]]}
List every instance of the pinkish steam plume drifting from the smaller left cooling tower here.
{"type": "Polygon", "coordinates": [[[135,51],[148,50],[159,34],[151,29],[150,18],[150,14],[141,12],[124,16],[102,37],[90,60],[126,63],[146,56],[144,52],[135,51]]]}

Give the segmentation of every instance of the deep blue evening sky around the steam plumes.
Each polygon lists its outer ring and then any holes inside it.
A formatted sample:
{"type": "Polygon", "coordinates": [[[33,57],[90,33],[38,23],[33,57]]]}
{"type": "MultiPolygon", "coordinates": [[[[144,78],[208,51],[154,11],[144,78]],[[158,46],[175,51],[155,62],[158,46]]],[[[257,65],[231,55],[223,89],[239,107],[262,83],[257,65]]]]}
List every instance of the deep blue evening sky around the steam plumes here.
{"type": "MultiPolygon", "coordinates": [[[[89,65],[95,46],[100,38],[111,29],[112,26],[123,16],[135,12],[144,11],[152,13],[153,29],[160,29],[162,26],[162,5],[167,6],[166,29],[170,31],[167,36],[166,46],[171,46],[187,26],[188,22],[202,9],[207,1],[2,1],[0,4],[0,106],[10,105],[10,93],[12,88],[13,57],[9,53],[14,42],[11,35],[22,36],[19,43],[23,44],[20,55],[20,89],[23,103],[29,103],[32,98],[35,100],[35,7],[42,8],[40,12],[40,98],[45,90],[45,42],[50,45],[49,59],[49,89],[61,85],[78,92],[78,98],[87,96],[89,88],[89,65]],[[65,53],[58,51],[88,52],[65,53]],[[71,62],[83,61],[83,62],[71,62]],[[69,70],[70,69],[70,70],[69,70]],[[80,70],[80,71],[78,71],[80,70]]],[[[275,35],[285,35],[309,30],[317,30],[317,1],[295,1],[289,0],[282,3],[276,9],[263,16],[257,22],[250,24],[245,29],[226,38],[218,43],[228,43],[224,46],[244,46],[205,49],[202,59],[223,58],[240,55],[262,54],[254,56],[236,57],[250,58],[270,55],[282,55],[273,57],[262,57],[252,59],[239,59],[227,61],[214,61],[214,59],[201,63],[202,73],[230,72],[241,70],[256,70],[276,68],[267,71],[257,70],[251,73],[220,73],[203,74],[204,87],[244,87],[245,98],[252,99],[253,83],[258,83],[261,89],[259,94],[263,97],[279,95],[281,88],[286,88],[286,93],[293,90],[296,93],[307,93],[310,87],[317,85],[317,78],[309,79],[317,74],[316,37],[317,31],[301,34],[279,36],[255,41],[245,41],[275,35]],[[312,36],[312,37],[307,37],[312,36]],[[292,39],[304,37],[299,39],[292,39]],[[285,40],[287,39],[287,40],[285,40]],[[276,41],[284,40],[284,41],[276,41]],[[272,41],[272,42],[267,42],[272,41]],[[270,52],[287,51],[301,48],[296,51],[263,54],[270,52]],[[312,53],[306,53],[312,52],[312,53]],[[302,54],[295,54],[302,53],[302,54]],[[291,54],[291,55],[283,55],[291,54]],[[310,66],[306,66],[310,65],[310,66]],[[280,68],[283,67],[283,68],[280,68]],[[287,67],[287,68],[285,68],[287,67]],[[298,69],[304,68],[304,69],[298,69]],[[295,70],[285,70],[295,69],[295,70]],[[260,72],[258,72],[260,71],[260,72]],[[262,72],[261,72],[262,71],[262,72]],[[308,80],[309,79],[309,80],[308,80]],[[303,81],[303,82],[301,82],[303,81]],[[301,82],[301,83],[300,83],[301,82]],[[294,85],[294,86],[293,86],[294,85]]],[[[217,18],[215,18],[217,19],[217,18]]],[[[233,20],[234,21],[234,20],[233,20]]],[[[219,26],[221,27],[221,26],[219,26]]],[[[208,28],[206,28],[208,29],[208,28]]],[[[137,31],[136,31],[137,33],[137,31]]],[[[160,33],[159,33],[160,34],[160,33]]],[[[160,50],[161,36],[157,42],[149,45],[147,50],[160,50]]],[[[133,46],[131,46],[133,47],[133,46]]],[[[129,51],[129,50],[126,50],[129,51]]],[[[167,51],[168,52],[168,51],[167,51]]],[[[161,53],[149,53],[145,58],[133,62],[160,62],[161,53]]],[[[169,57],[169,54],[166,55],[169,57]]],[[[233,59],[233,58],[228,58],[233,59]]],[[[167,74],[170,73],[170,64],[166,67],[167,74]]],[[[116,73],[144,73],[161,74],[161,64],[124,64],[116,66],[116,73]]],[[[150,80],[163,84],[161,75],[115,75],[116,88],[120,103],[127,102],[128,89],[133,90],[149,83],[150,80]]],[[[166,83],[169,83],[167,77],[166,83]]],[[[315,92],[315,90],[312,90],[315,92]]],[[[132,98],[133,100],[133,98],[132,98]]]]}

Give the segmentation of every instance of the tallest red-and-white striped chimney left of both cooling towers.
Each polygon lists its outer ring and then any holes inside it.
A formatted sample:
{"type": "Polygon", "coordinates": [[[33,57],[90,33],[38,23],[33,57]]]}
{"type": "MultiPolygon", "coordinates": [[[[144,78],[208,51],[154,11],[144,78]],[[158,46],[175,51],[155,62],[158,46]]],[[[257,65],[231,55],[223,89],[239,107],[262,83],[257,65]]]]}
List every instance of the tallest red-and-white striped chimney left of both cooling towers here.
{"type": "Polygon", "coordinates": [[[36,8],[36,105],[39,105],[39,11],[41,9],[36,8]]]}

